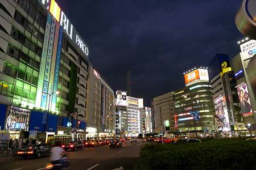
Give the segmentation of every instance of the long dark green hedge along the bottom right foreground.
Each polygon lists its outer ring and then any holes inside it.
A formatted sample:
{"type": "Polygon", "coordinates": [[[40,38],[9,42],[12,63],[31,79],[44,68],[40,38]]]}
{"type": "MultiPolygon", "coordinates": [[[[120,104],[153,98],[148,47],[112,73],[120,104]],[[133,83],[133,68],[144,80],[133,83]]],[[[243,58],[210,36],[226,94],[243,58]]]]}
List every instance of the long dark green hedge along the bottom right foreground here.
{"type": "Polygon", "coordinates": [[[253,169],[256,142],[210,140],[187,145],[146,145],[133,169],[253,169]]]}

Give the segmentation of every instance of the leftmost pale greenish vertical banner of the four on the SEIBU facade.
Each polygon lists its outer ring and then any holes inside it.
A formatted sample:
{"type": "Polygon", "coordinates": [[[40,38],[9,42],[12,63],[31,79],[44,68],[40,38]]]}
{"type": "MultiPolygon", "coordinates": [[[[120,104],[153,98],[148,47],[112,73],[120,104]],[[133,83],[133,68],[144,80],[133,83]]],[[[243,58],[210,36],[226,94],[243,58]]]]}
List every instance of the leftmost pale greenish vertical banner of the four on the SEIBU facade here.
{"type": "Polygon", "coordinates": [[[47,58],[49,35],[50,35],[50,31],[51,31],[51,22],[52,22],[52,16],[51,16],[51,14],[48,14],[47,15],[47,23],[46,23],[46,31],[44,34],[43,52],[42,52],[42,57],[41,57],[40,70],[39,70],[38,89],[36,91],[36,103],[35,103],[36,108],[41,107],[42,90],[43,90],[43,82],[44,82],[44,71],[46,70],[46,58],[47,58]]]}

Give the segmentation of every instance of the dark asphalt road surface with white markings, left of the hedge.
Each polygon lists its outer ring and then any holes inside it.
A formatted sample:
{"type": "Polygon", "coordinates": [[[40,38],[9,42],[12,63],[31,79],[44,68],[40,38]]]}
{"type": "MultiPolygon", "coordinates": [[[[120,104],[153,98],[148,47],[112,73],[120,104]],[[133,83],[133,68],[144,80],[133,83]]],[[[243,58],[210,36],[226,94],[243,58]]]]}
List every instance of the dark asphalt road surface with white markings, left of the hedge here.
{"type": "MultiPolygon", "coordinates": [[[[81,151],[68,152],[68,159],[71,163],[71,169],[86,170],[108,170],[108,169],[131,169],[133,163],[139,158],[141,148],[146,144],[143,141],[136,143],[127,142],[122,148],[109,148],[109,146],[100,146],[85,148],[81,151]]],[[[0,169],[19,170],[32,169],[43,170],[45,164],[49,162],[49,157],[45,156],[39,159],[14,159],[0,163],[0,169]]]]}

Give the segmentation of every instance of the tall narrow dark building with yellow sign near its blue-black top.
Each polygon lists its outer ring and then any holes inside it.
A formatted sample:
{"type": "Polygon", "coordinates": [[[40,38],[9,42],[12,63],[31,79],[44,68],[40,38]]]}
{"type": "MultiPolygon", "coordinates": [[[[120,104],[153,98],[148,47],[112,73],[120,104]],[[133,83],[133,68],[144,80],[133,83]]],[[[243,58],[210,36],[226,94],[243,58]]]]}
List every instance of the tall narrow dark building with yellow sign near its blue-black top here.
{"type": "Polygon", "coordinates": [[[236,80],[229,63],[228,54],[216,54],[219,72],[212,80],[212,94],[216,115],[224,122],[222,131],[234,131],[242,125],[242,114],[238,100],[236,80]]]}

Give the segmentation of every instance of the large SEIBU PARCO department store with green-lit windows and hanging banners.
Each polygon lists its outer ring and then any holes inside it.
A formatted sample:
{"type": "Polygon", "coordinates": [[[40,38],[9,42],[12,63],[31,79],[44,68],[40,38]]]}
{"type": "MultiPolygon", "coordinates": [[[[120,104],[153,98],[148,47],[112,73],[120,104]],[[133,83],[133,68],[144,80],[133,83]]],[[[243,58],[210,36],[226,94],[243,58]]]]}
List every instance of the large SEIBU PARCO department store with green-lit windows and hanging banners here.
{"type": "Polygon", "coordinates": [[[71,132],[73,138],[84,137],[85,41],[54,0],[0,5],[1,130],[11,138],[36,131],[48,142],[71,132]]]}

